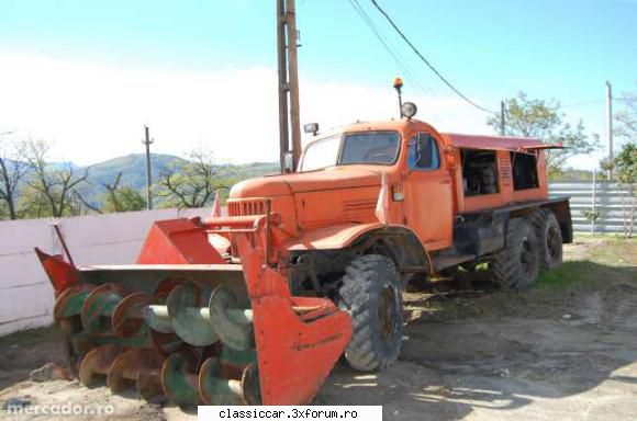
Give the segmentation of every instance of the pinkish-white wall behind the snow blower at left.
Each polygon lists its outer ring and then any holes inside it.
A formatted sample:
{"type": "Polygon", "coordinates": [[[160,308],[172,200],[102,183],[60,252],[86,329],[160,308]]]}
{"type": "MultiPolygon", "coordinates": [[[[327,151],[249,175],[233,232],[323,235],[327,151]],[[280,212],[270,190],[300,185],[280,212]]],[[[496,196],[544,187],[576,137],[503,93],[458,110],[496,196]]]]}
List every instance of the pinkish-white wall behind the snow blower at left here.
{"type": "MultiPolygon", "coordinates": [[[[153,221],[208,216],[210,208],[159,209],[58,219],[76,264],[134,263],[153,221]]],[[[53,287],[34,247],[63,253],[52,219],[0,221],[0,335],[53,321],[53,287]]]]}

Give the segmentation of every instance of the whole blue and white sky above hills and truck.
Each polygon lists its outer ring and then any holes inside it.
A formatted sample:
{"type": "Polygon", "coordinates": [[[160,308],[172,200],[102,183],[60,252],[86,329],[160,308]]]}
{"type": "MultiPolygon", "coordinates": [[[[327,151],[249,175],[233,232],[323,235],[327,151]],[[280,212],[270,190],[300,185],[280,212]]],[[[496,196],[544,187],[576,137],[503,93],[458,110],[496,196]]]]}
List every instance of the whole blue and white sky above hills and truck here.
{"type": "MultiPolygon", "coordinates": [[[[557,99],[567,121],[605,140],[605,81],[617,95],[637,91],[637,0],[378,2],[488,110],[519,91],[557,99]]],[[[297,15],[302,123],[396,117],[391,82],[402,76],[418,118],[493,133],[489,114],[445,87],[369,0],[297,0],[297,15]]],[[[0,133],[45,139],[53,159],[143,152],[148,125],[154,152],[276,161],[277,115],[276,0],[0,0],[0,133]]],[[[592,169],[603,156],[569,164],[592,169]]]]}

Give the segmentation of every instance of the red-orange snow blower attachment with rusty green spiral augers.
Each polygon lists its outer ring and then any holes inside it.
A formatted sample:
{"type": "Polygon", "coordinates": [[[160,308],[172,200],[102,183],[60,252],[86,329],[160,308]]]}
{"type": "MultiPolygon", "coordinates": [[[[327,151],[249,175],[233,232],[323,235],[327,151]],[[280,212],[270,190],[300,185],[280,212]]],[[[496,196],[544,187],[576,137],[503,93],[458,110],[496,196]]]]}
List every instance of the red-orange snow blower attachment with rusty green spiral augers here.
{"type": "Polygon", "coordinates": [[[36,249],[80,382],[179,406],[311,401],[351,320],[290,294],[270,250],[276,216],[158,221],[134,265],[76,268],[36,249]],[[231,243],[238,259],[222,257],[231,243]]]}

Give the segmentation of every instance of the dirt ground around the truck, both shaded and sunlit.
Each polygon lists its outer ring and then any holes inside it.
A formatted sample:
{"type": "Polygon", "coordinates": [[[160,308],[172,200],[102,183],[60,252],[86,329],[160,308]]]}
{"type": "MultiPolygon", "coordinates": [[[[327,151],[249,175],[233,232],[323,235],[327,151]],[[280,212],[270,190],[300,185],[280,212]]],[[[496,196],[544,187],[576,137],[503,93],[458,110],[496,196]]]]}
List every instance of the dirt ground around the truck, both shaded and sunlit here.
{"type": "MultiPolygon", "coordinates": [[[[637,241],[578,237],[566,262],[523,293],[460,280],[460,293],[405,294],[399,361],[361,374],[339,362],[315,405],[382,405],[385,420],[637,419],[637,241]]],[[[434,291],[435,293],[435,291],[434,291]]],[[[52,329],[0,338],[0,405],[112,405],[110,417],[193,420],[194,412],[77,380],[33,383],[62,355],[52,329]]],[[[8,416],[0,419],[52,419],[8,416]]]]}

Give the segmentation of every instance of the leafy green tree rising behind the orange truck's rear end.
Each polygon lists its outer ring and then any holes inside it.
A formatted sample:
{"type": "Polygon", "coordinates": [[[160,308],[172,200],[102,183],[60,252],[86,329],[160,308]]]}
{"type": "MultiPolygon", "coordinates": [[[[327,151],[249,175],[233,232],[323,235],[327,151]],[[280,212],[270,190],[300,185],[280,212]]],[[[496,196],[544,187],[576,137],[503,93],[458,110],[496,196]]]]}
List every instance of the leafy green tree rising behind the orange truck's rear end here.
{"type": "MultiPolygon", "coordinates": [[[[563,149],[547,153],[547,173],[551,178],[559,174],[567,159],[574,155],[588,153],[599,146],[596,136],[591,139],[584,134],[580,121],[573,127],[563,121],[560,104],[556,100],[530,100],[524,92],[505,100],[505,136],[533,137],[545,144],[561,144],[563,149]]],[[[500,132],[501,116],[495,114],[487,124],[500,132]]]]}

